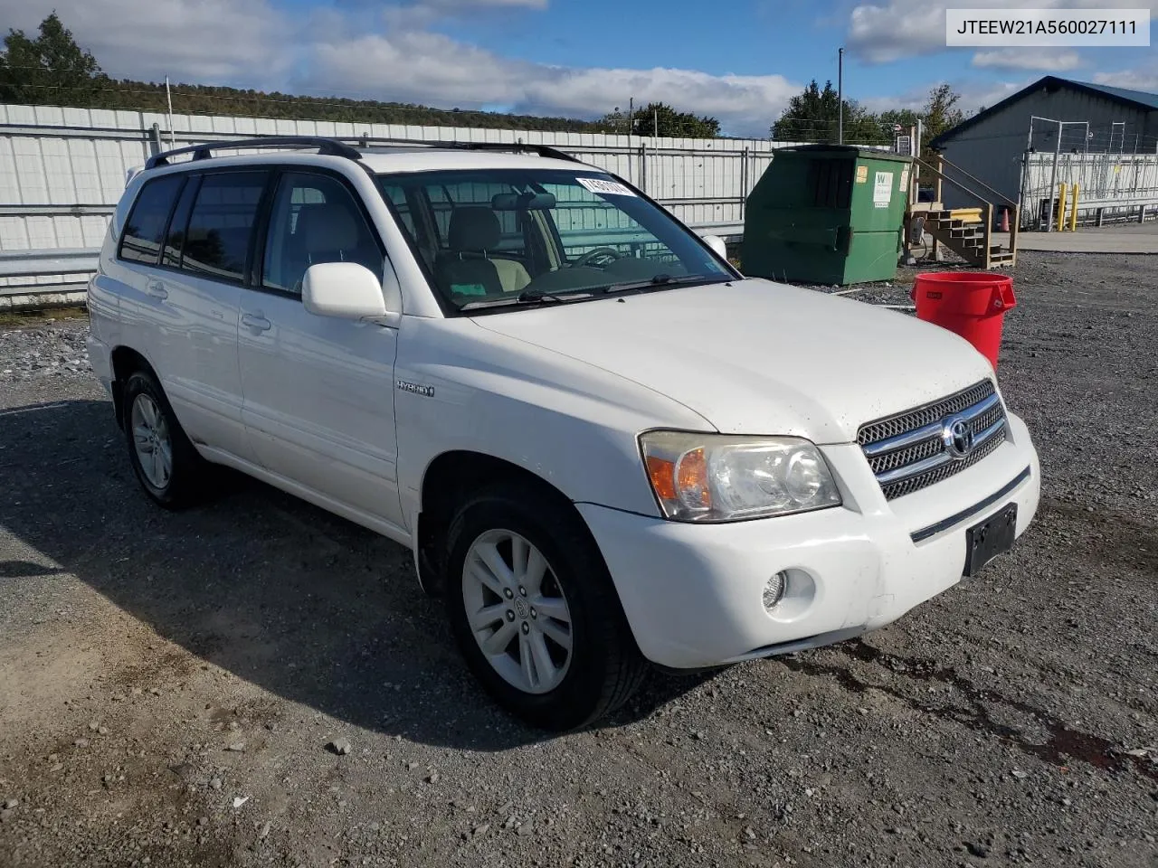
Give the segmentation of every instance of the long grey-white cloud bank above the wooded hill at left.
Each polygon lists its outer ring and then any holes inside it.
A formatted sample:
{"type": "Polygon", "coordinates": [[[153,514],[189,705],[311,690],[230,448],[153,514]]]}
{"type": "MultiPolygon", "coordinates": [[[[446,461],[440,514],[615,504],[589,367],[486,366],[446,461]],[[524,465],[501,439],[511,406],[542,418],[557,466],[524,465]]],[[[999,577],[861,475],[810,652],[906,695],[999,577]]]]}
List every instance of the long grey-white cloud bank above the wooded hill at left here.
{"type": "MultiPolygon", "coordinates": [[[[312,95],[511,106],[599,117],[629,97],[720,119],[725,132],[765,137],[802,87],[783,75],[696,69],[562,67],[503,57],[432,24],[470,10],[515,14],[548,0],[338,0],[291,15],[274,0],[56,0],[65,27],[113,78],[235,84],[312,95]],[[504,10],[505,9],[505,10],[504,10]]],[[[0,0],[0,20],[35,31],[45,8],[0,0]]],[[[131,101],[131,97],[127,97],[131,101]]]]}

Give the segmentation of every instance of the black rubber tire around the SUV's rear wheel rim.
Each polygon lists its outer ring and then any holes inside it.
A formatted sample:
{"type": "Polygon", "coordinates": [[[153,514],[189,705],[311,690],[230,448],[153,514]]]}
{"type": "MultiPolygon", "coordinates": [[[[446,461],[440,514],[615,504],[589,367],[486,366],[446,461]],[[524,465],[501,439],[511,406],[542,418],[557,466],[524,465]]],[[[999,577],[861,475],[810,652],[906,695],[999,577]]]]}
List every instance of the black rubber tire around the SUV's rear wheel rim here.
{"type": "Polygon", "coordinates": [[[148,494],[154,503],[166,509],[183,509],[198,502],[204,491],[203,485],[207,464],[197,454],[197,449],[193,448],[193,444],[181,427],[181,422],[177,421],[177,417],[173,412],[173,407],[169,405],[169,399],[166,398],[161,384],[156,382],[156,378],[151,373],[137,370],[125,381],[123,395],[123,427],[125,442],[129,446],[129,462],[133,466],[133,473],[137,475],[137,481],[140,483],[141,488],[145,490],[145,493],[148,494]],[[159,411],[167,426],[169,443],[171,446],[171,472],[167,481],[161,485],[149,479],[148,473],[141,464],[141,457],[134,442],[133,406],[140,396],[147,396],[159,411]]]}

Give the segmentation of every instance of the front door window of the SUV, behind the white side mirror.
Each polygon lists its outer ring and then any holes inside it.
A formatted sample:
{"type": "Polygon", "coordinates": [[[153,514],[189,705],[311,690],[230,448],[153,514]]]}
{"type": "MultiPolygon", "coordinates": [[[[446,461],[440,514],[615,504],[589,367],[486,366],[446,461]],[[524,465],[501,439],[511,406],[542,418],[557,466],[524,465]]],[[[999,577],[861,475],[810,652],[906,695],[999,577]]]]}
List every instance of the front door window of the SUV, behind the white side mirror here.
{"type": "Polygon", "coordinates": [[[386,262],[358,203],[337,178],[281,176],[270,213],[262,285],[301,294],[306,269],[318,263],[358,263],[381,277],[386,262]]]}

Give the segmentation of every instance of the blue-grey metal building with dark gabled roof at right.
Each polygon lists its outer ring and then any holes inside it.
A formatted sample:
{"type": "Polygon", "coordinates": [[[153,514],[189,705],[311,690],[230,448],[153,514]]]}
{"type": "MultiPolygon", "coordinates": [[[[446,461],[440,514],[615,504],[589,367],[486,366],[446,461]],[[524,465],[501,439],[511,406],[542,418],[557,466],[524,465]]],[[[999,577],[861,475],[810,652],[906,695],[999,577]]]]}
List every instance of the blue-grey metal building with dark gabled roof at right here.
{"type": "MultiPolygon", "coordinates": [[[[1064,160],[1069,167],[1115,155],[1150,155],[1146,162],[1158,159],[1153,156],[1158,153],[1158,94],[1047,75],[937,137],[932,147],[1020,201],[1023,223],[1029,225],[1036,220],[1040,198],[1036,189],[1025,189],[1032,183],[1027,177],[1031,163],[1053,165],[1064,160]]],[[[1158,191],[1129,192],[1135,201],[1138,196],[1158,197],[1158,191]]],[[[944,199],[947,207],[969,204],[948,186],[944,199]]]]}

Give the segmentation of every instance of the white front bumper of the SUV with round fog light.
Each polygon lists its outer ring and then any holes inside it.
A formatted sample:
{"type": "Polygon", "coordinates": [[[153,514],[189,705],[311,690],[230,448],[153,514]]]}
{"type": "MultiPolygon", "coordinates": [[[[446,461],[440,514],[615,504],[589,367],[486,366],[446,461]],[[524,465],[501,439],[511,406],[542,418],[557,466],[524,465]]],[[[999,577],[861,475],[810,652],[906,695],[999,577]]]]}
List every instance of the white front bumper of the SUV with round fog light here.
{"type": "Polygon", "coordinates": [[[885,500],[860,449],[845,444],[823,449],[844,499],[834,509],[689,524],[578,508],[645,657],[691,669],[782,654],[885,626],[955,584],[965,529],[1005,505],[1018,505],[1017,535],[1025,531],[1041,471],[1025,424],[1012,414],[1009,424],[992,455],[895,501],[885,500]],[[789,589],[769,613],[765,583],[782,571],[789,589]]]}

